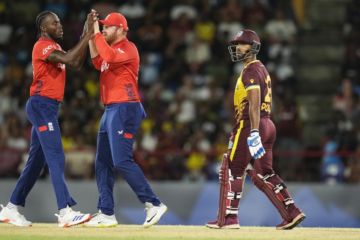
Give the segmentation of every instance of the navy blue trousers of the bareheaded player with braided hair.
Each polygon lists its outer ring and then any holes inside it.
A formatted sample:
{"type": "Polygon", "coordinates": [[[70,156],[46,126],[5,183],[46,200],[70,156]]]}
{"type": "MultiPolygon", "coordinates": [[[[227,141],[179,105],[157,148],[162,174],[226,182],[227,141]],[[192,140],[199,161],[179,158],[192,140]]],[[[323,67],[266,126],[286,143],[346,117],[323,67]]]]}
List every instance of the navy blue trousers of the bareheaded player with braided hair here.
{"type": "MultiPolygon", "coordinates": [[[[10,202],[25,207],[25,199],[48,163],[58,208],[75,205],[64,178],[65,155],[58,123],[59,101],[43,96],[31,96],[26,114],[32,124],[29,159],[10,196],[10,202]]],[[[48,193],[44,193],[46,198],[48,193]]]]}

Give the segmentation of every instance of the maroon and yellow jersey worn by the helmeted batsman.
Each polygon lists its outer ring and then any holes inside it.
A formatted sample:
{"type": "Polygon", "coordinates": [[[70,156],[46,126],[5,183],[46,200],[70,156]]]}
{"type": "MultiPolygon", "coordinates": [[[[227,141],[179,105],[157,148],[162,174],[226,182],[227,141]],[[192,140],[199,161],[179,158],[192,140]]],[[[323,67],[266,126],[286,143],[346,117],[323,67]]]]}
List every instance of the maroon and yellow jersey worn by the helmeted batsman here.
{"type": "Polygon", "coordinates": [[[237,121],[250,118],[247,96],[250,89],[260,89],[260,117],[268,117],[271,106],[271,80],[264,64],[259,60],[248,63],[236,83],[234,108],[237,121]]]}

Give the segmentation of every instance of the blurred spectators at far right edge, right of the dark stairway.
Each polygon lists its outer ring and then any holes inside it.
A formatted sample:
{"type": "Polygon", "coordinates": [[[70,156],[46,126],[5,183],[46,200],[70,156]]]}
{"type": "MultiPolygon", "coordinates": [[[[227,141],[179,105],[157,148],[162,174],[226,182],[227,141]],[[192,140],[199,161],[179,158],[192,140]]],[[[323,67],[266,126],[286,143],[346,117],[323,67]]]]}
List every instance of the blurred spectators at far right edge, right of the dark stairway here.
{"type": "Polygon", "coordinates": [[[333,96],[332,119],[328,124],[322,161],[325,180],[360,182],[360,3],[352,1],[343,26],[346,39],[342,80],[333,96]],[[334,156],[332,151],[345,157],[334,156]]]}

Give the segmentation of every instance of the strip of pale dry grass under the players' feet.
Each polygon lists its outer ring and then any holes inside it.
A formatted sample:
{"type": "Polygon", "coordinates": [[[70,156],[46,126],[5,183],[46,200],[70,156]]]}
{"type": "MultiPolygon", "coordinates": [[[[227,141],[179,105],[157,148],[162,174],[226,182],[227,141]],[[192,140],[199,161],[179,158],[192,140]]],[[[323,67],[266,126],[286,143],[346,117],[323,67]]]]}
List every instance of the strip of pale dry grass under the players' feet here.
{"type": "Polygon", "coordinates": [[[59,228],[55,223],[33,223],[33,227],[16,227],[0,223],[0,240],[49,239],[360,239],[360,228],[311,228],[296,227],[293,230],[275,230],[275,227],[241,227],[221,230],[205,226],[118,225],[110,228],[85,228],[73,226],[59,228]]]}

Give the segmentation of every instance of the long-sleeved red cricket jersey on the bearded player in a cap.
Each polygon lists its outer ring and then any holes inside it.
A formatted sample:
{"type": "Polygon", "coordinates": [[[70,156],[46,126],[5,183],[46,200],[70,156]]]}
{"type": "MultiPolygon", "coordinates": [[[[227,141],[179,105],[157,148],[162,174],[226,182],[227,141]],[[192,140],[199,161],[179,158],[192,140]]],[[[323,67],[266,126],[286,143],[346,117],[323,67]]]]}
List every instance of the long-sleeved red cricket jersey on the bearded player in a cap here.
{"type": "Polygon", "coordinates": [[[101,33],[94,36],[99,55],[93,64],[100,70],[100,92],[103,104],[140,102],[138,93],[139,53],[125,37],[109,46],[101,33]]]}

